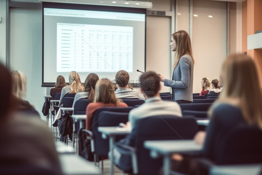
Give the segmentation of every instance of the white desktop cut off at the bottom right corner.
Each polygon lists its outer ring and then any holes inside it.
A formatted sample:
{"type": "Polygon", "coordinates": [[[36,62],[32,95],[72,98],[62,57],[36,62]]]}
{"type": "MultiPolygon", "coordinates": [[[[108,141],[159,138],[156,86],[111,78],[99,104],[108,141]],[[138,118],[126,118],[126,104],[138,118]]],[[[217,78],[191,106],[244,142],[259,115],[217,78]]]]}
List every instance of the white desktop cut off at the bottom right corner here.
{"type": "Polygon", "coordinates": [[[262,164],[214,166],[211,168],[211,175],[259,175],[262,171],[262,164]]]}

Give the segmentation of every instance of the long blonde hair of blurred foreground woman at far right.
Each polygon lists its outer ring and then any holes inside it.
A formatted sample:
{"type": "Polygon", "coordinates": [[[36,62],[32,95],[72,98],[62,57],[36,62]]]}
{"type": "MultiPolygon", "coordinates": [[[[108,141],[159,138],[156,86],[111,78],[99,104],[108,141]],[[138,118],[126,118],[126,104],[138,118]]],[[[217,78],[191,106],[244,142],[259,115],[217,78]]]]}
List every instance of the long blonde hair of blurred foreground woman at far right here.
{"type": "Polygon", "coordinates": [[[239,107],[248,124],[262,129],[262,92],[254,61],[243,54],[230,55],[222,71],[224,89],[219,101],[239,107]]]}

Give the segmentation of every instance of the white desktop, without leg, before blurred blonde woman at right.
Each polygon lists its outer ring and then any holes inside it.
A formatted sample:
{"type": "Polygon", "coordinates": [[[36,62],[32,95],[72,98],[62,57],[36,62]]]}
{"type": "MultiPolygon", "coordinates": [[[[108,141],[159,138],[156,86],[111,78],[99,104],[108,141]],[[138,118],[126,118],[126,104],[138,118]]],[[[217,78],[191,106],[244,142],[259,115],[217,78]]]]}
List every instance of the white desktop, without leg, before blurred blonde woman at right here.
{"type": "Polygon", "coordinates": [[[194,140],[148,140],[144,147],[162,155],[173,153],[201,151],[202,145],[197,145],[194,140]]]}

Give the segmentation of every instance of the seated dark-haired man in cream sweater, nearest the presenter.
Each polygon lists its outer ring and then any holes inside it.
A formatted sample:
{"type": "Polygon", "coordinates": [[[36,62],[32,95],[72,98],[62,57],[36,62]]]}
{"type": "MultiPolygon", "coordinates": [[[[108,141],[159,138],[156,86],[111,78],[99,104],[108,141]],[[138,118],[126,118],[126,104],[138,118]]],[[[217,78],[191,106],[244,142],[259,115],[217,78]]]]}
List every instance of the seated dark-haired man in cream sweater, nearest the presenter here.
{"type": "MultiPolygon", "coordinates": [[[[126,136],[125,139],[120,140],[122,144],[128,146],[135,146],[134,137],[136,136],[136,122],[142,118],[155,116],[155,115],[174,115],[182,117],[182,111],[178,103],[173,101],[164,101],[160,97],[160,77],[153,71],[148,71],[140,76],[140,81],[152,81],[152,86],[144,86],[141,91],[145,94],[145,103],[139,107],[132,109],[129,112],[129,122],[123,127],[129,127],[132,129],[131,133],[126,136]]],[[[110,153],[111,154],[111,153],[110,153]]],[[[110,155],[109,154],[109,155],[110,155]]],[[[114,151],[115,163],[123,170],[126,166],[132,166],[131,157],[126,162],[119,162],[121,153],[114,151]],[[130,163],[130,165],[128,165],[130,163]],[[124,165],[125,167],[122,167],[124,165]]]]}

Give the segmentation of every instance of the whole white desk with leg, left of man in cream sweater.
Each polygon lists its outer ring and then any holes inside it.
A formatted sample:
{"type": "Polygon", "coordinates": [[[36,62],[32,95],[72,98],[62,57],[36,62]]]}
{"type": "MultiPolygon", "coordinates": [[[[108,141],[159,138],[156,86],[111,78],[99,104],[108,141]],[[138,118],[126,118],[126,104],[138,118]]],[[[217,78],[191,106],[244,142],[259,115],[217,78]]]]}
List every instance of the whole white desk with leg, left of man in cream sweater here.
{"type": "Polygon", "coordinates": [[[98,131],[102,133],[102,137],[106,139],[109,137],[109,150],[111,151],[111,157],[110,157],[110,175],[114,174],[114,142],[115,142],[115,136],[119,135],[127,135],[131,132],[131,129],[126,128],[120,128],[118,126],[105,126],[105,127],[98,127],[98,131]]]}

